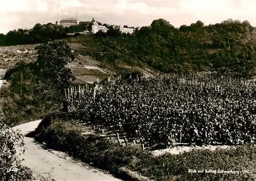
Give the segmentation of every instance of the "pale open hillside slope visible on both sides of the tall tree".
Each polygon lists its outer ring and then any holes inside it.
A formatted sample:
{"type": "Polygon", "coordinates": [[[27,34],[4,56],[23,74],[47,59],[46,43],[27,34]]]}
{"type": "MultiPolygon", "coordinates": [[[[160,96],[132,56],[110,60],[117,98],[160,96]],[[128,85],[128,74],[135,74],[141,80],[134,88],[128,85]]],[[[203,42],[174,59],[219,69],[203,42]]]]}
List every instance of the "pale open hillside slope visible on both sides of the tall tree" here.
{"type": "MultiPolygon", "coordinates": [[[[36,61],[35,47],[39,44],[24,44],[17,46],[1,47],[0,52],[0,69],[10,69],[14,67],[17,62],[25,61],[27,63],[36,61]]],[[[78,52],[77,57],[72,63],[69,63],[70,69],[76,76],[76,83],[94,82],[113,77],[123,71],[141,71],[146,75],[152,75],[155,72],[150,69],[141,69],[139,67],[131,66],[113,66],[111,64],[102,64],[102,62],[95,60],[93,56],[81,55],[80,52],[86,51],[86,47],[79,43],[69,43],[72,50],[78,52]]],[[[0,72],[1,73],[1,72],[0,72]]],[[[1,74],[2,75],[2,74],[1,74]]],[[[3,77],[3,76],[2,76],[3,77]]]]}

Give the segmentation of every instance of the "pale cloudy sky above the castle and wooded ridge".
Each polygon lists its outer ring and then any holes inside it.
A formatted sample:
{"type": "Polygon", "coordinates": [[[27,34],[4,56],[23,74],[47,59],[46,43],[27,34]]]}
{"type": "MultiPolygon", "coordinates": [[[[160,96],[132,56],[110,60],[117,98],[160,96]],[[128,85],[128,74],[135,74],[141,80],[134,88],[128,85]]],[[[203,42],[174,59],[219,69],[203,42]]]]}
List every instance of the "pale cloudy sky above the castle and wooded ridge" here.
{"type": "Polygon", "coordinates": [[[69,17],[81,21],[94,18],[102,24],[133,27],[150,26],[154,19],[159,18],[166,19],[174,27],[190,25],[197,20],[209,25],[228,18],[248,20],[256,26],[256,1],[0,0],[0,33],[4,34],[69,17]]]}

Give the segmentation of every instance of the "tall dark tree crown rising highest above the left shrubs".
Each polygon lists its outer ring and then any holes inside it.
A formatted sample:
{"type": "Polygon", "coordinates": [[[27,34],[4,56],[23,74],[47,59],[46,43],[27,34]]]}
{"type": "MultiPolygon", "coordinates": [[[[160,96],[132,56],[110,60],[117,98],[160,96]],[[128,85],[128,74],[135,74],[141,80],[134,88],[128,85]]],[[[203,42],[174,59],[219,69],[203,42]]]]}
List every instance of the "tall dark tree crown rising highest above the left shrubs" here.
{"type": "Polygon", "coordinates": [[[75,53],[65,41],[53,41],[36,47],[37,74],[42,79],[52,80],[60,89],[68,87],[74,74],[66,65],[75,59],[75,53]]]}

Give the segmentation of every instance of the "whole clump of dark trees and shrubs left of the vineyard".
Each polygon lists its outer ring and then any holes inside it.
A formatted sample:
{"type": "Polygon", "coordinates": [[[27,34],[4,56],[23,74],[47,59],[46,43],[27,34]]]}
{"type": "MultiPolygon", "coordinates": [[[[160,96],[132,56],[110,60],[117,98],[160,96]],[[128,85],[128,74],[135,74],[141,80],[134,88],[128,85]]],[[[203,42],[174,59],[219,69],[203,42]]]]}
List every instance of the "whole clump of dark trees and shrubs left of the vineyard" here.
{"type": "Polygon", "coordinates": [[[11,83],[0,89],[0,98],[3,100],[4,121],[8,125],[38,119],[58,110],[63,101],[63,88],[74,80],[66,65],[74,60],[75,55],[66,42],[48,42],[35,49],[38,54],[35,63],[19,62],[5,74],[11,83]]]}

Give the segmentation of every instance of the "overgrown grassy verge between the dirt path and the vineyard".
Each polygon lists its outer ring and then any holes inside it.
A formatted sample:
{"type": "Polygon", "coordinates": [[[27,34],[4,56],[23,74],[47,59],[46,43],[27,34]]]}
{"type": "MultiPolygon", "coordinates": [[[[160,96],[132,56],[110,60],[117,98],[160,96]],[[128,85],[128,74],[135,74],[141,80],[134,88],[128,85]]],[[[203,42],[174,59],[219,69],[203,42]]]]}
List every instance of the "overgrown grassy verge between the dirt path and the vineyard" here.
{"type": "Polygon", "coordinates": [[[82,112],[53,114],[39,124],[33,135],[36,141],[45,142],[48,148],[68,152],[76,159],[108,170],[124,180],[255,180],[256,148],[253,145],[156,157],[137,147],[119,147],[97,135],[82,135],[71,123],[81,115],[82,112]],[[189,173],[188,169],[239,173],[189,173]],[[243,173],[244,170],[249,173],[243,173]],[[132,172],[145,177],[131,176],[132,172]]]}

